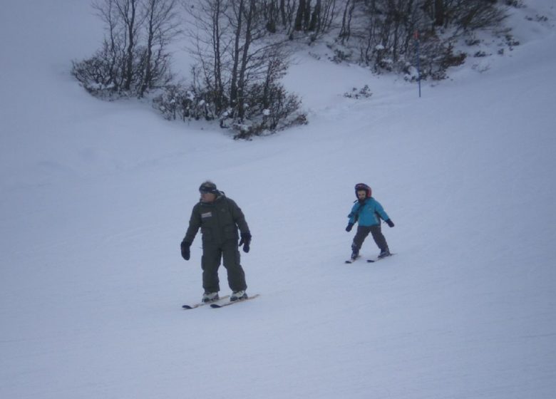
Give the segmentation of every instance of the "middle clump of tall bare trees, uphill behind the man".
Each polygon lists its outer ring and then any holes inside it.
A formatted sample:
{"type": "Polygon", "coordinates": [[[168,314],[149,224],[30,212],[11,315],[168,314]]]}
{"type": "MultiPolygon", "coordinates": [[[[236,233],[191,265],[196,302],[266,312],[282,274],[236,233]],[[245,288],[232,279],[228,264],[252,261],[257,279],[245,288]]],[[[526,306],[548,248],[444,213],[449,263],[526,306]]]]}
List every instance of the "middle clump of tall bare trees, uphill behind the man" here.
{"type": "MultiPolygon", "coordinates": [[[[192,92],[210,104],[212,118],[219,118],[222,126],[224,120],[243,124],[260,118],[268,112],[264,105],[269,98],[287,97],[285,90],[278,90],[287,70],[285,36],[271,36],[268,16],[276,10],[265,9],[265,4],[279,6],[264,0],[206,0],[188,8],[190,51],[197,59],[192,92]]],[[[290,107],[289,113],[295,108],[290,107]]]]}

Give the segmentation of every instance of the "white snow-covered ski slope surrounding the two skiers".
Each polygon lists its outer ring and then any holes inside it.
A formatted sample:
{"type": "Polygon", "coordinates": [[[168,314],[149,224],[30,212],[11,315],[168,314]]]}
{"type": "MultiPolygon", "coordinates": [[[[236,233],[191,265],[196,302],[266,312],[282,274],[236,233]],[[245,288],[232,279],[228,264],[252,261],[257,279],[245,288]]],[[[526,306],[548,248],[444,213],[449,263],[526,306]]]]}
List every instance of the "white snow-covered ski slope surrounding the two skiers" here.
{"type": "Polygon", "coordinates": [[[551,1],[513,11],[521,45],[488,71],[470,60],[422,98],[299,53],[285,83],[309,125],[251,142],[88,96],[68,68],[102,26],[78,3],[0,14],[1,398],[554,397],[551,1]],[[262,295],[182,311],[202,294],[200,238],[189,262],[179,243],[207,178],[247,216],[262,295]],[[356,182],[396,257],[344,264],[356,182]]]}

